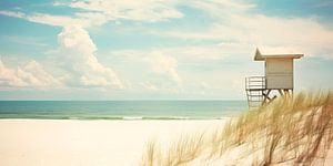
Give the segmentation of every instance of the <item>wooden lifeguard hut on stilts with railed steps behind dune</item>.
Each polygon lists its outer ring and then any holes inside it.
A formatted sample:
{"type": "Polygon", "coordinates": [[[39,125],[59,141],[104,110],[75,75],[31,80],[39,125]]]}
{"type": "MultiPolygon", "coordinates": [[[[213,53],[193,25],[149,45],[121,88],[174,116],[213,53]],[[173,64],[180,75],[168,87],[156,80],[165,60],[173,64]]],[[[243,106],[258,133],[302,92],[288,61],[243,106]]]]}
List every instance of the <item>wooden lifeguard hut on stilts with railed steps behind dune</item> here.
{"type": "Polygon", "coordinates": [[[254,61],[264,61],[264,76],[245,77],[245,91],[249,107],[256,107],[273,101],[275,94],[287,95],[294,89],[294,59],[302,58],[303,54],[283,53],[283,54],[262,54],[256,49],[254,61]],[[278,93],[279,92],[279,93],[278,93]]]}

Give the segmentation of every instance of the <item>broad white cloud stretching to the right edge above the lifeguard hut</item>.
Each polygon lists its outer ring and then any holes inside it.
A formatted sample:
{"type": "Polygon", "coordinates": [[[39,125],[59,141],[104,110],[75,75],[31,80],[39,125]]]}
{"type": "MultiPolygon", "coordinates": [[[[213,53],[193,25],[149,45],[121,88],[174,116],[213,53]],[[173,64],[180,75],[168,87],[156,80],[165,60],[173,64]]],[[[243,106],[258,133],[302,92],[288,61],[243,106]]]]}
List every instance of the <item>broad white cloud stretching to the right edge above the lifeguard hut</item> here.
{"type": "Polygon", "coordinates": [[[230,7],[230,9],[226,8],[230,3],[223,3],[225,10],[213,6],[214,3],[209,1],[189,3],[214,17],[215,22],[205,30],[147,30],[147,33],[198,41],[220,41],[222,48],[225,43],[232,43],[232,48],[224,49],[224,51],[229,50],[228,52],[244,50],[250,45],[252,50],[255,46],[289,48],[287,50],[302,51],[306,56],[333,58],[331,46],[333,30],[315,17],[266,17],[249,12],[252,6],[244,2],[238,3],[240,7],[230,7]]]}

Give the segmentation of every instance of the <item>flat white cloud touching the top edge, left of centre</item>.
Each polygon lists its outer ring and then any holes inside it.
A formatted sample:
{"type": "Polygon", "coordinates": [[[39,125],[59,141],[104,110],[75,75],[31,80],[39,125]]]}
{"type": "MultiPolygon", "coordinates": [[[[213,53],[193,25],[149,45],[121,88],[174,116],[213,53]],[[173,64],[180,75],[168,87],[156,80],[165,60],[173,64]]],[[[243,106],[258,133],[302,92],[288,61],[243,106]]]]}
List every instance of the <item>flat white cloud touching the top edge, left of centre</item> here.
{"type": "Polygon", "coordinates": [[[99,12],[108,20],[125,19],[155,22],[171,18],[182,18],[171,1],[160,0],[122,0],[122,1],[74,1],[70,7],[83,9],[88,12],[99,12]]]}

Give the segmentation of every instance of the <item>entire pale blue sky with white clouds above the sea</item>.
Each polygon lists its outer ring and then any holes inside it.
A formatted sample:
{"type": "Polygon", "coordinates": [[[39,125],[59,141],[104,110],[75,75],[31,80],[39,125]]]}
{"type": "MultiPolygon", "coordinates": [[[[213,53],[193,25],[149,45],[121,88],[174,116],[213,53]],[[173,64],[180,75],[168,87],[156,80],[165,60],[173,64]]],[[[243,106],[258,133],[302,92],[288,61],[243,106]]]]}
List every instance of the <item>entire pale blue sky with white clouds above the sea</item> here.
{"type": "Polygon", "coordinates": [[[0,0],[0,100],[245,100],[255,49],[333,89],[331,0],[0,0]]]}

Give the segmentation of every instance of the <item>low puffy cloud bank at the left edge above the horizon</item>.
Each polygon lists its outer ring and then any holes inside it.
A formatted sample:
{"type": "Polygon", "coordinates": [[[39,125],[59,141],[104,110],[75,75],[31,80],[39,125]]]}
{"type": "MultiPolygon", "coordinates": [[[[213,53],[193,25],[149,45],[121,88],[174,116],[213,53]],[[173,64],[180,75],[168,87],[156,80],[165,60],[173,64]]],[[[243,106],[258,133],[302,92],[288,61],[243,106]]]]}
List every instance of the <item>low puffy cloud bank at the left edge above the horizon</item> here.
{"type": "Polygon", "coordinates": [[[17,69],[8,68],[0,59],[0,86],[1,89],[11,87],[61,87],[63,84],[49,74],[41,64],[30,61],[17,69]]]}

